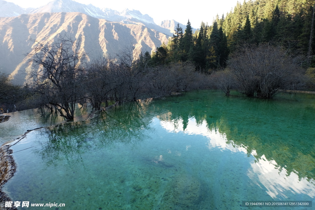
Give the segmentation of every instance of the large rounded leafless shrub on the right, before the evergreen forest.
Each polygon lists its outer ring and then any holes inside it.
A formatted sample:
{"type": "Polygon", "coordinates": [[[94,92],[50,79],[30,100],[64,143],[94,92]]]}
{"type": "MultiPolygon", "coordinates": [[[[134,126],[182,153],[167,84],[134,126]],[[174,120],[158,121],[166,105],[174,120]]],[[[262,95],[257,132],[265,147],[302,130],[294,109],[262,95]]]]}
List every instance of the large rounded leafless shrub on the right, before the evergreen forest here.
{"type": "Polygon", "coordinates": [[[269,44],[239,47],[230,56],[228,68],[237,90],[248,96],[272,98],[279,90],[301,84],[298,57],[269,44]]]}

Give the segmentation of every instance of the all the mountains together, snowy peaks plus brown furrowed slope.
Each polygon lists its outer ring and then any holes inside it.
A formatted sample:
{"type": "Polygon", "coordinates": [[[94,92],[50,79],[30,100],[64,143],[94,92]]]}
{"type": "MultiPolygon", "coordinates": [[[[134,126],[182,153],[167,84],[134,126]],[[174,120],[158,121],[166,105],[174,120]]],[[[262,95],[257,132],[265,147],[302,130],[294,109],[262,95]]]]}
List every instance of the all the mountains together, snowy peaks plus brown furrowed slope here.
{"type": "Polygon", "coordinates": [[[0,0],[0,16],[0,73],[10,74],[17,84],[29,82],[27,72],[36,71],[25,56],[37,45],[31,40],[45,44],[60,33],[81,35],[80,50],[88,54],[89,61],[100,54],[115,55],[131,45],[151,53],[168,42],[177,26],[175,20],[164,20],[158,26],[138,10],[118,12],[72,0],[54,0],[28,9],[0,0]]]}

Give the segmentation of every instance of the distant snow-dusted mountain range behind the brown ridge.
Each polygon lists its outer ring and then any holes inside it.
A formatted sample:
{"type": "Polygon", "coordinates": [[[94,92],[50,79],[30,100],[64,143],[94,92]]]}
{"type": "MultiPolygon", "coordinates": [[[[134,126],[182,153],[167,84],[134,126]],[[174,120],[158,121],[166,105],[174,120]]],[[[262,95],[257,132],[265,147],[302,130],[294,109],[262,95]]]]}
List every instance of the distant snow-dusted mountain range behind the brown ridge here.
{"type": "MultiPolygon", "coordinates": [[[[39,8],[21,8],[20,6],[0,0],[0,17],[14,17],[20,14],[34,14],[43,12],[80,12],[98,19],[105,19],[124,24],[136,24],[146,26],[169,36],[173,35],[174,27],[177,26],[175,20],[163,20],[159,25],[154,23],[148,14],[141,14],[138,10],[125,9],[122,12],[108,8],[98,8],[92,4],[86,5],[72,0],[54,0],[39,8]]],[[[185,30],[186,25],[180,24],[185,30]]],[[[194,29],[195,31],[196,29],[194,29]]]]}

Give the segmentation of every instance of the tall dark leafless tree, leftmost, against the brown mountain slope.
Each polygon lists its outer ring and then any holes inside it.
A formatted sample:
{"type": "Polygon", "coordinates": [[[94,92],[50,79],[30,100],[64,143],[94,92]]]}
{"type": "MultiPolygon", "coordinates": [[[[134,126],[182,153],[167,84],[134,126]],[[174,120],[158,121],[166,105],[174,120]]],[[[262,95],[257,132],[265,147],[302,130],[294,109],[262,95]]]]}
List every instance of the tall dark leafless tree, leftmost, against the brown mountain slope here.
{"type": "Polygon", "coordinates": [[[31,77],[44,104],[54,105],[60,116],[73,119],[76,102],[85,97],[81,37],[59,34],[56,41],[39,43],[27,54],[33,67],[31,77]]]}

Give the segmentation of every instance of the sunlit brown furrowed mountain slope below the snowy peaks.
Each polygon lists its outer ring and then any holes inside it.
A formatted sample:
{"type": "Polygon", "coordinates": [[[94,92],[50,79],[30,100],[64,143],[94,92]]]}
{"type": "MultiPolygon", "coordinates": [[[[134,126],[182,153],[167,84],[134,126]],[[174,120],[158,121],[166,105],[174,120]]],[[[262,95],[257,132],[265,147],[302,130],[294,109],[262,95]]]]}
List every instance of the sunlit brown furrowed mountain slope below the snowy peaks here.
{"type": "Polygon", "coordinates": [[[82,35],[81,49],[88,60],[106,54],[115,54],[133,45],[143,52],[167,43],[169,36],[143,25],[124,24],[98,19],[79,12],[34,13],[18,17],[0,18],[0,71],[11,74],[14,83],[25,82],[26,73],[33,71],[25,57],[31,53],[37,40],[49,42],[59,34],[71,37],[82,35]]]}

